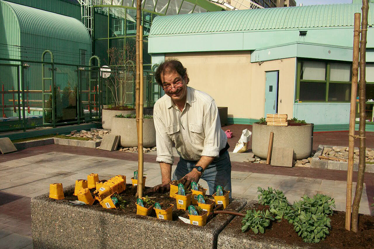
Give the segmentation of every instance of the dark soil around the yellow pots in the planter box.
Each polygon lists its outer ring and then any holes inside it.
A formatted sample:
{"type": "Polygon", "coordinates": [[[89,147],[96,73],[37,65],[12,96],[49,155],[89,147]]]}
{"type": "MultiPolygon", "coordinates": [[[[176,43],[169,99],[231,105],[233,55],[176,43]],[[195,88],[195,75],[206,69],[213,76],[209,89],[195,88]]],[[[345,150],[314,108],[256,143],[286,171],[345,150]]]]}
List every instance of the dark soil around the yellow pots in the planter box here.
{"type": "MultiPolygon", "coordinates": [[[[96,190],[95,188],[90,190],[92,196],[93,196],[93,191],[95,191],[95,190],[96,190]]],[[[137,202],[137,199],[138,199],[137,197],[135,197],[136,193],[137,193],[137,187],[132,186],[132,184],[126,184],[126,190],[123,191],[121,194],[119,194],[119,196],[121,196],[123,200],[126,200],[126,204],[128,204],[128,206],[126,206],[124,209],[119,209],[119,208],[117,208],[117,209],[105,209],[104,207],[102,207],[100,205],[100,203],[97,200],[95,200],[95,202],[93,203],[92,206],[102,208],[102,210],[104,212],[107,211],[107,212],[112,212],[112,213],[116,213],[116,214],[136,213],[137,212],[137,206],[136,206],[135,203],[137,202]]],[[[145,187],[145,189],[143,190],[143,196],[144,197],[148,196],[148,198],[150,198],[154,202],[162,203],[162,206],[165,206],[165,209],[167,209],[170,206],[170,204],[173,204],[174,205],[173,206],[173,221],[178,221],[178,222],[184,223],[183,221],[181,221],[178,218],[178,216],[181,216],[181,217],[184,217],[184,218],[188,219],[188,210],[184,211],[184,210],[177,209],[177,202],[174,198],[171,198],[169,196],[169,192],[167,192],[167,193],[153,192],[153,188],[145,187]]],[[[212,196],[208,196],[208,197],[212,197],[212,196]]],[[[65,195],[64,200],[78,200],[78,197],[73,196],[73,195],[71,195],[71,196],[66,196],[65,195]]],[[[148,216],[156,218],[156,212],[154,211],[154,209],[151,210],[151,213],[148,216]]]]}

